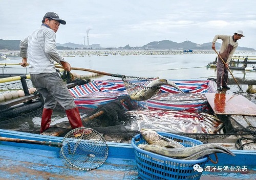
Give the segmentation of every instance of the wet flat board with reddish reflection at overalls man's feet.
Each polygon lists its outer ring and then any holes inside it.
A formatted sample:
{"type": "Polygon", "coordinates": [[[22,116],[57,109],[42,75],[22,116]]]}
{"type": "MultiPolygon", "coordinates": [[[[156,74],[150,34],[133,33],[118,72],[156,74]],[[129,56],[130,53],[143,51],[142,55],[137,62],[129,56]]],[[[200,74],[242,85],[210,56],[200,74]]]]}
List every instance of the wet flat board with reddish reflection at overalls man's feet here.
{"type": "Polygon", "coordinates": [[[215,114],[256,116],[256,105],[242,95],[204,94],[215,114]]]}

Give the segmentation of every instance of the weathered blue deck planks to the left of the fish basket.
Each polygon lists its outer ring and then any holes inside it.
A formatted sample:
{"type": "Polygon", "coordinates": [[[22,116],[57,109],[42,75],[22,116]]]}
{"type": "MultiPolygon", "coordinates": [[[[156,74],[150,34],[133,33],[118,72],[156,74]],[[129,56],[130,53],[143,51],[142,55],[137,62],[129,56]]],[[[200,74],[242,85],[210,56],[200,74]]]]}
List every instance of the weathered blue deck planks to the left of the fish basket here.
{"type": "Polygon", "coordinates": [[[70,168],[56,151],[0,144],[0,179],[139,179],[134,159],[108,158],[99,168],[70,168]]]}

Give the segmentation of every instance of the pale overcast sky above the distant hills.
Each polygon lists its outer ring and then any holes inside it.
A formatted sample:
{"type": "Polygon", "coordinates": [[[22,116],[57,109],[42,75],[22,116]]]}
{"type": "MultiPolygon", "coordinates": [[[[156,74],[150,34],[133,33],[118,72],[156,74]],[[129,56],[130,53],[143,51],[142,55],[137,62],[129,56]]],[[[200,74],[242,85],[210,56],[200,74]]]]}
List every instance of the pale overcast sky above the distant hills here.
{"type": "MultiPolygon", "coordinates": [[[[243,30],[240,47],[256,49],[256,1],[187,0],[0,0],[0,39],[22,40],[53,11],[60,24],[56,42],[102,47],[143,46],[152,41],[202,44],[216,34],[243,30]]],[[[217,42],[221,43],[221,40],[217,42]]]]}

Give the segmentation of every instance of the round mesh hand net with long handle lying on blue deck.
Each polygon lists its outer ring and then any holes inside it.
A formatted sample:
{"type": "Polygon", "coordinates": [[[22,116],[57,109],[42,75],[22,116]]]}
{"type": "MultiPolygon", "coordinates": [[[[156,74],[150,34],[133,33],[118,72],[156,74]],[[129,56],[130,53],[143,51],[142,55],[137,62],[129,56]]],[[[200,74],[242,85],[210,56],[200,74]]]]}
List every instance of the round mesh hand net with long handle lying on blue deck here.
{"type": "Polygon", "coordinates": [[[61,142],[35,141],[0,137],[0,141],[28,143],[60,147],[60,158],[80,170],[92,170],[101,166],[108,157],[108,146],[97,131],[79,127],[70,131],[61,142]]]}

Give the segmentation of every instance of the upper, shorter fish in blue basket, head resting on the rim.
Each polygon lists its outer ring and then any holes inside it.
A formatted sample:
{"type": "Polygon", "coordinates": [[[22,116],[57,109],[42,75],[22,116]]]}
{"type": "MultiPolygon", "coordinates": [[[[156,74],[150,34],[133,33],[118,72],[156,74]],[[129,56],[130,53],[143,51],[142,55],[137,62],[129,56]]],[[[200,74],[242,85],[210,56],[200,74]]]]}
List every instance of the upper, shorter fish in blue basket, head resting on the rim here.
{"type": "Polygon", "coordinates": [[[145,141],[148,144],[155,144],[155,145],[159,145],[161,147],[168,147],[168,148],[184,147],[179,142],[177,142],[175,140],[172,140],[172,139],[169,139],[169,138],[165,138],[165,137],[159,135],[157,132],[155,132],[153,130],[144,130],[144,129],[142,129],[140,131],[140,134],[142,135],[142,137],[145,139],[145,141]]]}

